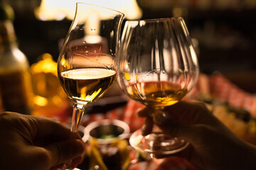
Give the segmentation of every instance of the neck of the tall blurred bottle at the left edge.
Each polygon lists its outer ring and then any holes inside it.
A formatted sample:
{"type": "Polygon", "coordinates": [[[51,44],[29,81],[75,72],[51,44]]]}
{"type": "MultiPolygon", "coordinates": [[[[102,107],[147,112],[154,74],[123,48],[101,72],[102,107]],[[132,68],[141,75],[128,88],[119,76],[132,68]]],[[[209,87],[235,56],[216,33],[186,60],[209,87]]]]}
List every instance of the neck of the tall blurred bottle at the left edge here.
{"type": "Polygon", "coordinates": [[[0,21],[0,50],[11,50],[15,47],[18,45],[12,21],[0,21]]]}

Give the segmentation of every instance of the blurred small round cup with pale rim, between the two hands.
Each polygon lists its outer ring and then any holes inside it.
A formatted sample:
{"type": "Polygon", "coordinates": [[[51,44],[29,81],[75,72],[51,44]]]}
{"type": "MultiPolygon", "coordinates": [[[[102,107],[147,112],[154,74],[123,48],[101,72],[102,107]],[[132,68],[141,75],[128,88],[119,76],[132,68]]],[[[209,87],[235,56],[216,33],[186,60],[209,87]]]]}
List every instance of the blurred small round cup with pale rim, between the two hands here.
{"type": "Polygon", "coordinates": [[[129,125],[122,120],[96,120],[86,126],[89,169],[127,169],[130,164],[129,125]]]}

